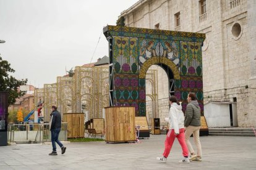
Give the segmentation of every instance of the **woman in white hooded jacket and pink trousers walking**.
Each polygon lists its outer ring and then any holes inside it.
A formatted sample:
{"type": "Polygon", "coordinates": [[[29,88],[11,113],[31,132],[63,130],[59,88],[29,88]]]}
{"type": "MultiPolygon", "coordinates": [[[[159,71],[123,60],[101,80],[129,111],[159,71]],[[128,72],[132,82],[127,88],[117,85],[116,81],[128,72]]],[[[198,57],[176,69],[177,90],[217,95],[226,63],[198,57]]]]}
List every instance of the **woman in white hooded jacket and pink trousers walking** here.
{"type": "Polygon", "coordinates": [[[182,148],[182,155],[184,156],[184,159],[179,162],[189,163],[189,150],[187,149],[184,134],[184,113],[182,112],[181,104],[179,101],[177,101],[174,95],[169,98],[169,103],[171,105],[169,110],[169,118],[165,118],[166,121],[169,121],[169,132],[164,142],[165,148],[163,157],[158,157],[157,160],[159,160],[161,163],[166,163],[167,157],[171,152],[171,147],[173,147],[174,139],[177,137],[177,140],[182,148]]]}

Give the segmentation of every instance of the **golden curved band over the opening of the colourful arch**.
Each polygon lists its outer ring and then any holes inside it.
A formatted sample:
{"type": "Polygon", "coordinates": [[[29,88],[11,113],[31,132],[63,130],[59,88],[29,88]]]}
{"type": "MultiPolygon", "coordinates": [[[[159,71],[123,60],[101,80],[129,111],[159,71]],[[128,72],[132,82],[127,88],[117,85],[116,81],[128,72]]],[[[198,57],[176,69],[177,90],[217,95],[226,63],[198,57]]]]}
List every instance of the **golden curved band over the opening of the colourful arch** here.
{"type": "Polygon", "coordinates": [[[156,65],[160,63],[167,65],[171,69],[171,71],[173,71],[174,79],[181,79],[181,75],[175,63],[167,59],[166,57],[151,57],[150,59],[145,61],[145,63],[143,63],[142,67],[140,68],[139,78],[146,78],[148,68],[150,68],[151,65],[156,65]]]}

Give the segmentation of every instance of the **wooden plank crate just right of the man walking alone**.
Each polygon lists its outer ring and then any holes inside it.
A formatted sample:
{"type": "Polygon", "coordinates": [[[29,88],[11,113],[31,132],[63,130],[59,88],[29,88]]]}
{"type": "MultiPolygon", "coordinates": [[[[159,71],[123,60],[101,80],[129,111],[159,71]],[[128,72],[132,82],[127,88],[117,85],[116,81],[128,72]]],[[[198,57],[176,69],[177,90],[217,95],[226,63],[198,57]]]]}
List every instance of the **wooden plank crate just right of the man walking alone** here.
{"type": "Polygon", "coordinates": [[[63,121],[67,123],[67,137],[84,137],[84,113],[64,113],[63,121]]]}

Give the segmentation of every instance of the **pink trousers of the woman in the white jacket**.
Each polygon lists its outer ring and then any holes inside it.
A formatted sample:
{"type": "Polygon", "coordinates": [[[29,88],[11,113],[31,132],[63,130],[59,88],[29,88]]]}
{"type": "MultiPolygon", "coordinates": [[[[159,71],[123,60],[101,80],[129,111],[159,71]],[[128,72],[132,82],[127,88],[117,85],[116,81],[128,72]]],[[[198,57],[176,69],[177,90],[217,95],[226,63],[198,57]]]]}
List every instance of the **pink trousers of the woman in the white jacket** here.
{"type": "Polygon", "coordinates": [[[185,131],[184,128],[179,129],[179,134],[176,135],[176,134],[174,134],[174,129],[169,130],[168,134],[166,135],[165,142],[164,142],[165,148],[164,148],[163,156],[165,158],[167,158],[169,153],[171,152],[171,147],[173,147],[173,142],[174,142],[175,137],[177,137],[179,144],[181,145],[182,155],[189,156],[189,150],[187,149],[187,145],[185,142],[184,131],[185,131]]]}

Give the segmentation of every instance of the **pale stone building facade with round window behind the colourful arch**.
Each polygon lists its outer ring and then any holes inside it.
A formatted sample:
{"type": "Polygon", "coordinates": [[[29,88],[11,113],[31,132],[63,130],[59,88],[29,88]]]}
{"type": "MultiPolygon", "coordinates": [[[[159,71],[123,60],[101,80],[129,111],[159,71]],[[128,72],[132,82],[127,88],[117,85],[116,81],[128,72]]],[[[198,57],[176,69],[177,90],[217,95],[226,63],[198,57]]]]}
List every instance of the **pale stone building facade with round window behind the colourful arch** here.
{"type": "MultiPolygon", "coordinates": [[[[140,0],[120,17],[125,26],[205,33],[203,91],[208,102],[236,105],[239,127],[256,125],[256,1],[140,0]]],[[[166,82],[158,73],[158,89],[166,82]]],[[[161,72],[162,71],[162,72],[161,72]]],[[[168,88],[163,87],[158,100],[168,88]]],[[[161,103],[161,102],[158,102],[161,103]]],[[[166,116],[166,107],[158,108],[166,116]]]]}

